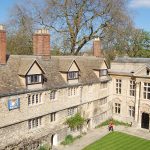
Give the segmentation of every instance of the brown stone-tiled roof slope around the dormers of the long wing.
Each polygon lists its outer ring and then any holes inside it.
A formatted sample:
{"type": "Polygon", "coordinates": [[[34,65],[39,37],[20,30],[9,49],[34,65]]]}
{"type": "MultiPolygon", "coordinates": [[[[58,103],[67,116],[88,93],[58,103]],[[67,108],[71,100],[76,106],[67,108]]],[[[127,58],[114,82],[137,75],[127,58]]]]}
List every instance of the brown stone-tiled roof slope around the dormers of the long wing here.
{"type": "Polygon", "coordinates": [[[31,92],[21,84],[19,75],[24,76],[35,60],[47,78],[40,91],[72,86],[64,81],[61,71],[68,71],[74,60],[80,68],[79,84],[98,83],[100,79],[93,69],[100,68],[104,62],[104,58],[94,56],[52,56],[46,61],[36,56],[11,55],[6,65],[0,65],[0,96],[31,92]]]}

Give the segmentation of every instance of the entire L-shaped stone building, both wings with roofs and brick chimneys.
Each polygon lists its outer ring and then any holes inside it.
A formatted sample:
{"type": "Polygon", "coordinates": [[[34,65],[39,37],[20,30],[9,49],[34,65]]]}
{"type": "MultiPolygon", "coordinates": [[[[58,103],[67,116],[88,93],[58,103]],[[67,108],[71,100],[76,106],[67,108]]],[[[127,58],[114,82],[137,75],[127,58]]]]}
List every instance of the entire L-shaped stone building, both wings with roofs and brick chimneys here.
{"type": "Polygon", "coordinates": [[[65,124],[77,112],[83,132],[109,118],[150,129],[149,58],[116,58],[108,69],[99,39],[93,56],[51,56],[49,40],[38,30],[32,56],[6,56],[0,25],[0,149],[56,146],[79,133],[65,124]]]}

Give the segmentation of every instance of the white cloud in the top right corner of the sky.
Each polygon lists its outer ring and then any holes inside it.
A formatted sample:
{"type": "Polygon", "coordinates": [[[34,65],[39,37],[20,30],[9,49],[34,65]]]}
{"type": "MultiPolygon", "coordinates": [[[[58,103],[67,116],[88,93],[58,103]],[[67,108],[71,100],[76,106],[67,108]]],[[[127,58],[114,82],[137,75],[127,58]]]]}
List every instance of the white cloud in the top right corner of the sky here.
{"type": "Polygon", "coordinates": [[[131,0],[129,6],[132,8],[150,8],[150,0],[131,0]]]}

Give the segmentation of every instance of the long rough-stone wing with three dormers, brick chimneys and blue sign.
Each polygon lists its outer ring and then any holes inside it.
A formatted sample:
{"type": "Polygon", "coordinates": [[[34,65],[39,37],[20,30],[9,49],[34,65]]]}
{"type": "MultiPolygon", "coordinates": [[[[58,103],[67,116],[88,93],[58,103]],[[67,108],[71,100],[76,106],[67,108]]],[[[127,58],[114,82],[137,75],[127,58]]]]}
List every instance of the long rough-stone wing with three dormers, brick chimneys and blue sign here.
{"type": "Polygon", "coordinates": [[[68,134],[64,122],[80,112],[84,132],[112,117],[111,79],[94,41],[94,56],[51,56],[50,35],[38,30],[32,56],[6,56],[6,31],[0,26],[0,149],[57,145],[68,134]]]}

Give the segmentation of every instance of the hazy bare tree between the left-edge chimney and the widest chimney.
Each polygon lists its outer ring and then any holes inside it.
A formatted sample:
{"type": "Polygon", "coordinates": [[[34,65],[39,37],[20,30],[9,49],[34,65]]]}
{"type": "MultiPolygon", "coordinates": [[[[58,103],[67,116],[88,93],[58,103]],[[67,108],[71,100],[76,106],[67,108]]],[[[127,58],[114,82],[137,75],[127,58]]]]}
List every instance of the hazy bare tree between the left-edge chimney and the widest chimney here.
{"type": "Polygon", "coordinates": [[[7,22],[7,50],[10,54],[32,54],[34,24],[25,7],[15,5],[7,22]]]}

